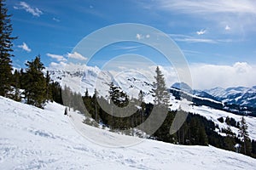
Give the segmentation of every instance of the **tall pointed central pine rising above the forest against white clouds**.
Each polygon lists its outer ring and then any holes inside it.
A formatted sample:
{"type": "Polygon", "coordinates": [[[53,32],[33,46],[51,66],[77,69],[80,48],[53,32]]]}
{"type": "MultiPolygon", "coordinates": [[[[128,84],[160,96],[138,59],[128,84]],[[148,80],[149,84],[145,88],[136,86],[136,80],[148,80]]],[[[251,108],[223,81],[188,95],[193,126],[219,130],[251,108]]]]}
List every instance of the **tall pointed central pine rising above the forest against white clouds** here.
{"type": "Polygon", "coordinates": [[[160,71],[159,66],[156,67],[156,76],[154,82],[154,104],[155,105],[168,105],[169,93],[166,90],[166,82],[164,75],[160,71]]]}

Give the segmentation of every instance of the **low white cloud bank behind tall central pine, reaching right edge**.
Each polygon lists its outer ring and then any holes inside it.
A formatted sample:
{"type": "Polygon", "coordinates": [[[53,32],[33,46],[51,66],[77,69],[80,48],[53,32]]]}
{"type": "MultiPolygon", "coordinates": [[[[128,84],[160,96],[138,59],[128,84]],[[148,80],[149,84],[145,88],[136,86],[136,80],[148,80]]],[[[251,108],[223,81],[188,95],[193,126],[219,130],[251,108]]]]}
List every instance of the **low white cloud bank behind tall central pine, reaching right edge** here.
{"type": "MultiPolygon", "coordinates": [[[[155,65],[148,69],[141,69],[140,72],[148,77],[154,76],[155,65]]],[[[192,88],[210,89],[210,88],[230,88],[230,87],[253,87],[256,85],[256,65],[249,65],[246,62],[236,62],[233,65],[209,65],[204,63],[195,63],[189,65],[192,79],[192,88]]],[[[160,66],[160,71],[164,74],[166,87],[172,86],[174,82],[179,82],[176,70],[171,66],[160,66]]],[[[153,79],[150,79],[154,81],[153,79]]],[[[189,83],[189,82],[187,82],[189,83]]]]}

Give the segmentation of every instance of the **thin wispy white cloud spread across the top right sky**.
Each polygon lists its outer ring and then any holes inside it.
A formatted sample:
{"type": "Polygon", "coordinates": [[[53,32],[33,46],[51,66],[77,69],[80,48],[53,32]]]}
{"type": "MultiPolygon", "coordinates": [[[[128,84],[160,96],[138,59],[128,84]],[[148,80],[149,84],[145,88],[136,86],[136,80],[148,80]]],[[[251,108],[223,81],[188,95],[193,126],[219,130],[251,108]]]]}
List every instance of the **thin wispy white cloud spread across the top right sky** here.
{"type": "Polygon", "coordinates": [[[144,8],[149,6],[149,10],[157,8],[172,14],[187,14],[196,20],[201,20],[201,23],[207,21],[208,24],[208,21],[212,21],[211,27],[215,28],[223,28],[223,23],[228,21],[232,26],[230,33],[240,33],[242,36],[244,32],[255,31],[255,0],[159,0],[141,5],[145,6],[144,8]]]}

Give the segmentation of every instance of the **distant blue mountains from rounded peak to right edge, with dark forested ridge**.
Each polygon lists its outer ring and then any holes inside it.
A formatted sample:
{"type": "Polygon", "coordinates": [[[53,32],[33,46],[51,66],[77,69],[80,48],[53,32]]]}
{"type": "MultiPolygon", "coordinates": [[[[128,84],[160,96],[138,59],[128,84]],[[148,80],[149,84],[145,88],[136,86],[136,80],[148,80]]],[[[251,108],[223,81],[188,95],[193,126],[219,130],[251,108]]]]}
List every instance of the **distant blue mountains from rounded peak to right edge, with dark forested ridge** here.
{"type": "Polygon", "coordinates": [[[193,90],[184,82],[176,82],[170,92],[179,97],[188,96],[194,105],[206,105],[214,109],[229,111],[238,115],[256,116],[256,91],[253,88],[212,88],[210,90],[193,90]],[[182,88],[180,88],[182,87],[182,88]],[[179,92],[180,91],[180,92],[179,92]]]}

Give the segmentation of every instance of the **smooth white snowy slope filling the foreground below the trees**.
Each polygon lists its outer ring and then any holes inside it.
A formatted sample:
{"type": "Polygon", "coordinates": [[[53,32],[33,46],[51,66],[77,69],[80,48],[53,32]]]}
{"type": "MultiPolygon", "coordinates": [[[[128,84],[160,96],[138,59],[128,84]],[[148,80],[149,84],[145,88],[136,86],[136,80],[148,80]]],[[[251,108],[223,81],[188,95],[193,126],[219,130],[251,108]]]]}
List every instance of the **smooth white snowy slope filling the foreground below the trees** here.
{"type": "MultiPolygon", "coordinates": [[[[255,159],[212,146],[137,139],[81,124],[106,147],[73,127],[79,114],[49,103],[44,110],[0,97],[0,169],[255,169],[255,159]]],[[[80,117],[81,118],[81,117],[80,117]]]]}

